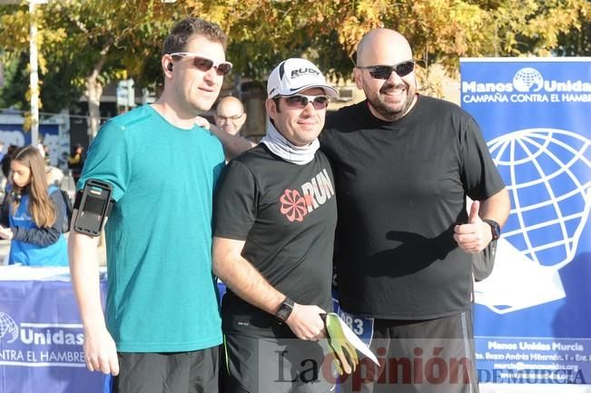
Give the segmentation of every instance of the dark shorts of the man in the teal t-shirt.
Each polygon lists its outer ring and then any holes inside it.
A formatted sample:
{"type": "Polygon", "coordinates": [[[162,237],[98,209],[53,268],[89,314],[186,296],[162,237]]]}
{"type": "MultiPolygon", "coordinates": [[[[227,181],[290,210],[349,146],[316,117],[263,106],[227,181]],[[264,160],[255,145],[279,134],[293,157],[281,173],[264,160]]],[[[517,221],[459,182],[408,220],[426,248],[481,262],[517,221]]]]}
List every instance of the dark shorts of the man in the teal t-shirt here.
{"type": "Polygon", "coordinates": [[[112,393],[217,393],[220,347],[191,352],[120,352],[112,393]]]}

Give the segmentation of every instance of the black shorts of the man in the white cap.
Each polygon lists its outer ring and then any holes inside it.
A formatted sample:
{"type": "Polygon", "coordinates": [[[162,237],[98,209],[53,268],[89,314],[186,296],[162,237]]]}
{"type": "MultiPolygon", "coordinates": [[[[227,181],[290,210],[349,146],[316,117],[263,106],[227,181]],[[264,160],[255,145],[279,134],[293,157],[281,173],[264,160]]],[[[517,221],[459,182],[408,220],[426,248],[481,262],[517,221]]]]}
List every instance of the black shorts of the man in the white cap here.
{"type": "Polygon", "coordinates": [[[226,334],[224,393],[324,393],[337,382],[326,339],[261,339],[226,334]]]}

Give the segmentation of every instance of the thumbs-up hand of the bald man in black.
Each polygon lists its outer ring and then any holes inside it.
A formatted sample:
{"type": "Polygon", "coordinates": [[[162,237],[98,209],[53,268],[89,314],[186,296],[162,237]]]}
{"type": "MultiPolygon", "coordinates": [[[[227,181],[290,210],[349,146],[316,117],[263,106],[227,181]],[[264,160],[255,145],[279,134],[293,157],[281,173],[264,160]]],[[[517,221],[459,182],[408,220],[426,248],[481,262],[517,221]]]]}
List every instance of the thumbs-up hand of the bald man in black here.
{"type": "Polygon", "coordinates": [[[479,209],[480,202],[472,202],[468,223],[454,227],[454,240],[458,242],[460,249],[468,253],[480,252],[492,241],[490,225],[480,219],[479,209]]]}

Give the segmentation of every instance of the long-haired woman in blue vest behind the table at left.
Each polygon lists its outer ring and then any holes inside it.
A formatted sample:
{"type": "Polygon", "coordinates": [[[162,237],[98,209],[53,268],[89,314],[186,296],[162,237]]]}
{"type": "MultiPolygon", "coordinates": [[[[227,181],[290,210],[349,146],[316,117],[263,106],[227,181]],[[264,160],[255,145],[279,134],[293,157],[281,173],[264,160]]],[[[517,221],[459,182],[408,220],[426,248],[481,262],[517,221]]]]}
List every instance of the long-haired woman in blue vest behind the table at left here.
{"type": "Polygon", "coordinates": [[[0,238],[10,240],[8,264],[67,266],[61,192],[47,185],[45,164],[33,146],[15,151],[2,204],[0,238]]]}

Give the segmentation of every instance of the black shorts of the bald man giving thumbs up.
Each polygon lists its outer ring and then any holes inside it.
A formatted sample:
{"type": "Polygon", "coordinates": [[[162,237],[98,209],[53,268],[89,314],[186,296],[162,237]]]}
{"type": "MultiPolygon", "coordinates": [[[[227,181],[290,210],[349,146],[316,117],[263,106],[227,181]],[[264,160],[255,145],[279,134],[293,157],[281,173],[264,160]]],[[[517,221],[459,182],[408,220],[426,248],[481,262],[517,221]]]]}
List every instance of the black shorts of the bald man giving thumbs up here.
{"type": "Polygon", "coordinates": [[[374,319],[367,358],[343,393],[478,393],[471,311],[429,320],[374,319]]]}

